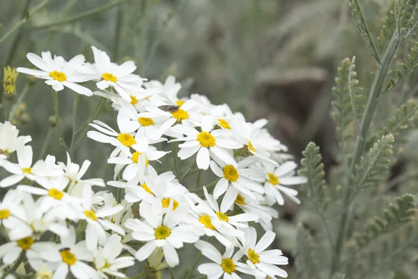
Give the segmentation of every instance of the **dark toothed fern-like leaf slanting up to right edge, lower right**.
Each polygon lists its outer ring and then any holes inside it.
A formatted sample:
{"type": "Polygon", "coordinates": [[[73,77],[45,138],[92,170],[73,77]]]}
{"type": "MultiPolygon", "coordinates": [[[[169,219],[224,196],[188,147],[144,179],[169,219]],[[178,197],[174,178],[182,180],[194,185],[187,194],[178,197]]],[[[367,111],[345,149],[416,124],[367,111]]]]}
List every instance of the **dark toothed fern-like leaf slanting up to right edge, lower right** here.
{"type": "Polygon", "coordinates": [[[397,197],[394,203],[384,211],[384,217],[375,216],[364,232],[355,236],[357,248],[362,249],[371,241],[383,234],[393,232],[395,229],[409,223],[414,219],[416,211],[415,197],[410,194],[397,197]]]}

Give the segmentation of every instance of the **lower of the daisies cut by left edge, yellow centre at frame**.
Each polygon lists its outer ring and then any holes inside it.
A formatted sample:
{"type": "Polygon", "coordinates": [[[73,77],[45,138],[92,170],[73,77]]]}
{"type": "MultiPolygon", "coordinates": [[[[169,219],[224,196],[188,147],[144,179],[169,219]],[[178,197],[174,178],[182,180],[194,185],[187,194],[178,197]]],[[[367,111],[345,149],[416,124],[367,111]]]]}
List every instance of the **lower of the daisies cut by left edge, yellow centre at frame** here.
{"type": "Polygon", "coordinates": [[[24,209],[20,205],[19,193],[16,190],[8,190],[0,202],[0,225],[7,229],[13,229],[19,220],[25,220],[24,209]]]}

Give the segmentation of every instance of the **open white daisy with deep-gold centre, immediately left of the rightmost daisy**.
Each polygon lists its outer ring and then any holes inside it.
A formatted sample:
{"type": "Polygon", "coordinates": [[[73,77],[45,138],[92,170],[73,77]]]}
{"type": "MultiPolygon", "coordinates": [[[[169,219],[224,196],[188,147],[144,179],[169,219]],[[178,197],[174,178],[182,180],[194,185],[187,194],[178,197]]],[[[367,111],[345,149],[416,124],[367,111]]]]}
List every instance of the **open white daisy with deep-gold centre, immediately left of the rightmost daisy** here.
{"type": "Polygon", "coordinates": [[[228,165],[216,157],[213,159],[217,163],[210,161],[210,169],[220,178],[213,190],[213,196],[217,199],[225,193],[221,203],[222,211],[228,210],[233,205],[238,193],[243,193],[253,199],[256,199],[253,191],[264,193],[263,186],[261,186],[261,182],[264,181],[263,173],[258,169],[249,168],[255,162],[254,157],[247,157],[238,163],[234,160],[228,165]]]}

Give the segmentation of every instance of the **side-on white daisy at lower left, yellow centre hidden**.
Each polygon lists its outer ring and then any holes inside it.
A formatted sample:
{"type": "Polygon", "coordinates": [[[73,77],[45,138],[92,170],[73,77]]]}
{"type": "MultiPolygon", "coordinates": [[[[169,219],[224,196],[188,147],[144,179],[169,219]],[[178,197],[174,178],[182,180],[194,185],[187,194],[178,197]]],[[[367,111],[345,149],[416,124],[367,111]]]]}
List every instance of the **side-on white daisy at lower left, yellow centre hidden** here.
{"type": "Polygon", "coordinates": [[[55,214],[50,211],[45,213],[40,210],[42,199],[36,202],[32,195],[23,195],[24,218],[10,229],[10,239],[23,239],[33,234],[42,234],[50,231],[59,236],[68,236],[68,227],[65,223],[57,223],[55,214]]]}

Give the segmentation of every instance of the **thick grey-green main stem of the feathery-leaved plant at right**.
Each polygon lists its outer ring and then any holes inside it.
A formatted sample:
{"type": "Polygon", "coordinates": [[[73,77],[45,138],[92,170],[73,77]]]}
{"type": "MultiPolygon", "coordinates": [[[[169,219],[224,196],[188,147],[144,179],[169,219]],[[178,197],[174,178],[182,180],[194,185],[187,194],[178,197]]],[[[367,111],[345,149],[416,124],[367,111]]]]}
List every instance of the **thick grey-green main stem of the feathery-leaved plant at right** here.
{"type": "Polygon", "coordinates": [[[394,59],[394,54],[396,53],[396,50],[398,50],[398,47],[401,44],[401,38],[402,36],[398,34],[398,31],[395,31],[394,35],[392,36],[392,39],[387,45],[385,54],[383,54],[382,56],[382,63],[380,66],[378,65],[378,70],[376,71],[375,79],[373,80],[373,84],[371,85],[369,99],[367,101],[366,109],[364,110],[362,121],[360,123],[359,135],[357,136],[357,140],[355,142],[354,156],[351,160],[350,171],[348,172],[348,176],[346,177],[345,181],[345,193],[342,207],[343,214],[340,218],[339,229],[337,231],[338,233],[336,234],[336,244],[334,246],[334,253],[332,255],[330,277],[339,268],[341,251],[343,248],[344,239],[346,239],[346,226],[350,215],[350,201],[352,200],[350,193],[350,177],[354,174],[355,166],[359,162],[359,159],[361,158],[362,153],[364,151],[366,138],[371,125],[371,120],[373,119],[373,114],[375,112],[376,105],[378,104],[378,96],[382,90],[385,78],[387,77],[387,72],[394,59]]]}

